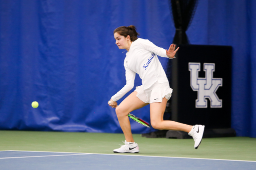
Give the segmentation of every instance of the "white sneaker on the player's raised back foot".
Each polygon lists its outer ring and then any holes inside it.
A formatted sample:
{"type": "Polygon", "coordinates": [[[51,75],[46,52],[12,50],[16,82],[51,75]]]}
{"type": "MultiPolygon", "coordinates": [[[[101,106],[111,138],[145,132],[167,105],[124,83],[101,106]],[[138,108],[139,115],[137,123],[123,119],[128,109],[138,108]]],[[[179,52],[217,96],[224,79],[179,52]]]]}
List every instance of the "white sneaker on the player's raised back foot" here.
{"type": "Polygon", "coordinates": [[[202,135],[204,131],[203,125],[194,125],[191,131],[188,133],[194,139],[194,149],[197,149],[202,141],[202,135]]]}

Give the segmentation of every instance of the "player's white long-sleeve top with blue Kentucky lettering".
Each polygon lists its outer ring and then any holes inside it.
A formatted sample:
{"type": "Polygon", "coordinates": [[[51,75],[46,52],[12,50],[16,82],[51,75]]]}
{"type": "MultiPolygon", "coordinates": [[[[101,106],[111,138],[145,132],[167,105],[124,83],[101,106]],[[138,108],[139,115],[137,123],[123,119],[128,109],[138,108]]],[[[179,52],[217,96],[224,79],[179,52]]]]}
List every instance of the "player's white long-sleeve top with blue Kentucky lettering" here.
{"type": "Polygon", "coordinates": [[[143,90],[148,89],[156,81],[158,83],[168,83],[157,55],[168,58],[165,49],[154,45],[147,39],[138,38],[133,41],[129,51],[126,52],[123,63],[126,84],[111,99],[117,101],[133,88],[136,73],[142,80],[143,90]]]}

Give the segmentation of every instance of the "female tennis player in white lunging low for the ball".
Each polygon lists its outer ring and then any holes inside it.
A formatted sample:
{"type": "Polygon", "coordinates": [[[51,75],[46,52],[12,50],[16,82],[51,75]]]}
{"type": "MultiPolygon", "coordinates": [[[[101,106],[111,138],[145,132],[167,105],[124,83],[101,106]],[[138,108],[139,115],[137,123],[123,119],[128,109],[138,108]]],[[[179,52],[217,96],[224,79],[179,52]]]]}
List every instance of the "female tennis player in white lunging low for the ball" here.
{"type": "Polygon", "coordinates": [[[163,120],[163,113],[167,100],[170,99],[172,89],[169,87],[166,74],[157,55],[169,59],[175,58],[175,45],[171,44],[168,50],[154,45],[147,39],[138,38],[135,26],[120,26],[114,30],[115,44],[119,49],[126,49],[124,59],[126,84],[113,95],[108,102],[115,112],[125,137],[124,145],[113,150],[114,153],[138,153],[138,145],[134,142],[128,113],[150,104],[150,123],[154,129],[177,130],[187,132],[194,139],[194,148],[197,149],[203,135],[204,126],[190,126],[174,121],[163,120]],[[134,86],[135,74],[142,80],[142,85],[127,96],[118,106],[117,100],[123,97],[134,86]]]}

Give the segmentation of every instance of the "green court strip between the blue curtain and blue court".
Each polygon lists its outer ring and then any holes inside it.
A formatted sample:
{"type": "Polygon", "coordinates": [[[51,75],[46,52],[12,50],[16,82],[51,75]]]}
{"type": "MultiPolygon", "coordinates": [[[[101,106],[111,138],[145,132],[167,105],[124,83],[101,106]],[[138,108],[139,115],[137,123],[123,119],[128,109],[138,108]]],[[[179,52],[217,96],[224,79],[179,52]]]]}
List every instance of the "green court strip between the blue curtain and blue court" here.
{"type": "MultiPolygon", "coordinates": [[[[192,139],[145,138],[134,134],[138,156],[256,161],[256,138],[203,138],[197,150],[192,139]]],[[[123,134],[0,131],[0,151],[46,151],[114,154],[123,134]]]]}

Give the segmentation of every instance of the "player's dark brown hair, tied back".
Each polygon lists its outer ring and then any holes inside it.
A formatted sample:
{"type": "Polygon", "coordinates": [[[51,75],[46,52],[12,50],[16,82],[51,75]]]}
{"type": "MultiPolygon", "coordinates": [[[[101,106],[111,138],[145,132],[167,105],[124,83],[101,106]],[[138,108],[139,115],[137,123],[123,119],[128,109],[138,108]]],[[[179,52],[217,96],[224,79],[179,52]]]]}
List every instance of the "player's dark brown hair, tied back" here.
{"type": "Polygon", "coordinates": [[[129,35],[131,41],[135,41],[138,38],[137,36],[139,35],[134,25],[120,26],[118,28],[115,28],[114,33],[115,32],[124,36],[125,38],[127,37],[127,35],[129,35]]]}

